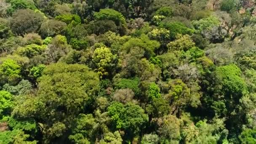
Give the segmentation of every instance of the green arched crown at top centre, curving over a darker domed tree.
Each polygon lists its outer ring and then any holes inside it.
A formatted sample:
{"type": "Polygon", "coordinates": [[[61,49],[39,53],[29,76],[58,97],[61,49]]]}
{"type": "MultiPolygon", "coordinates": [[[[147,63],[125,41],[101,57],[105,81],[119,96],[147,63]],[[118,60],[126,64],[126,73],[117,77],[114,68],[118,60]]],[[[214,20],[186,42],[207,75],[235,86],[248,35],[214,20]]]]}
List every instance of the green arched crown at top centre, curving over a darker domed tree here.
{"type": "Polygon", "coordinates": [[[94,18],[96,20],[111,20],[115,21],[115,24],[119,26],[120,24],[125,24],[125,18],[121,13],[113,9],[101,9],[99,12],[94,13],[94,18]]]}

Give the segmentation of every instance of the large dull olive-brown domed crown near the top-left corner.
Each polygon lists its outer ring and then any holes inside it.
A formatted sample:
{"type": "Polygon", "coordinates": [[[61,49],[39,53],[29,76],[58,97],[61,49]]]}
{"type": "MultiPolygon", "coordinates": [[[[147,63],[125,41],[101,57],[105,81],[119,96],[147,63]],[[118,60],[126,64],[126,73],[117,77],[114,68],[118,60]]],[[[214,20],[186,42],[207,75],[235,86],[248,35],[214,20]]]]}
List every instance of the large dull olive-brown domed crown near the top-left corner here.
{"type": "Polygon", "coordinates": [[[25,35],[26,33],[36,32],[44,20],[43,14],[30,9],[18,10],[13,13],[10,25],[13,33],[16,35],[25,35]],[[24,18],[24,16],[26,16],[24,18]]]}

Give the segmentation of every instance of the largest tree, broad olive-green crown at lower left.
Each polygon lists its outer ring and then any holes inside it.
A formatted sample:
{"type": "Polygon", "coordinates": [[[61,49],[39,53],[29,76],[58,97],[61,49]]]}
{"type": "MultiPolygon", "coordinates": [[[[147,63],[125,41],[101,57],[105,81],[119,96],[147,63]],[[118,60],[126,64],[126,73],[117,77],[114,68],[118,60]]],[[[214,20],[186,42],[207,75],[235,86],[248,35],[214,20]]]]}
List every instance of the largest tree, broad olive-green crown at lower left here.
{"type": "Polygon", "coordinates": [[[70,120],[84,111],[96,93],[98,75],[85,65],[57,63],[45,68],[38,83],[36,96],[19,101],[13,115],[37,120],[45,141],[66,139],[64,133],[72,124],[70,120]]]}

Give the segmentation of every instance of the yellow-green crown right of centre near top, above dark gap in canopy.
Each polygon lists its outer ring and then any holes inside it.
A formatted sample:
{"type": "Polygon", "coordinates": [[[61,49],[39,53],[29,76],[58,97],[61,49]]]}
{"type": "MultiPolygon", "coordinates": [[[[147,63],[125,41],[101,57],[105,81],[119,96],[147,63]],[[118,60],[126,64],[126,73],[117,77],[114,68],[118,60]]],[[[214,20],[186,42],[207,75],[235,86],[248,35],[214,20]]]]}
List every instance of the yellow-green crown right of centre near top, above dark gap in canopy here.
{"type": "Polygon", "coordinates": [[[176,40],[168,43],[169,51],[187,51],[195,46],[189,35],[176,35],[176,40]]]}

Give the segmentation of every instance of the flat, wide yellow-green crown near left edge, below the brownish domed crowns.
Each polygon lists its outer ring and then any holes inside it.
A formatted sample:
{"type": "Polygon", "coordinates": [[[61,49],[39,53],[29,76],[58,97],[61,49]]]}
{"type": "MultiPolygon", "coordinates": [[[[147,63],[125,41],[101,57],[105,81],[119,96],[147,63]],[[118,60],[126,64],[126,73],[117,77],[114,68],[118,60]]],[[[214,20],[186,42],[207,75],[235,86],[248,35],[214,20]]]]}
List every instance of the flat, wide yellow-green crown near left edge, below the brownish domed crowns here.
{"type": "Polygon", "coordinates": [[[20,56],[27,56],[28,58],[32,58],[33,56],[40,55],[45,51],[46,45],[27,45],[25,47],[19,47],[15,53],[19,54],[20,56]]]}

